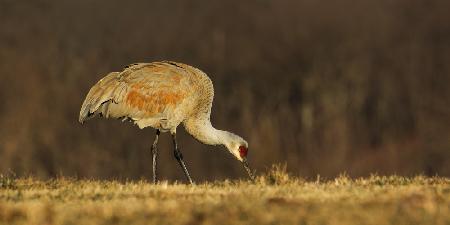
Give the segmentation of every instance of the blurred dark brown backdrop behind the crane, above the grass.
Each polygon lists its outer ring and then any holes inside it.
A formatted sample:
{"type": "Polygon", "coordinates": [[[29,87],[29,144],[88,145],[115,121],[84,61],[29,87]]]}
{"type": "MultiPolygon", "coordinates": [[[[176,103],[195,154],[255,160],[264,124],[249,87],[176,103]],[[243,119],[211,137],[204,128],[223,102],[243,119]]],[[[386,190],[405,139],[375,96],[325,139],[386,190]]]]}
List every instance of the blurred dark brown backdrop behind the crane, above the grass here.
{"type": "MultiPolygon", "coordinates": [[[[259,172],[450,176],[448,0],[0,0],[0,173],[150,179],[155,131],[78,123],[100,78],[173,60],[215,85],[212,121],[259,172]]],[[[245,178],[182,127],[197,181],[245,178]]],[[[161,179],[184,180],[170,135],[161,179]]]]}

